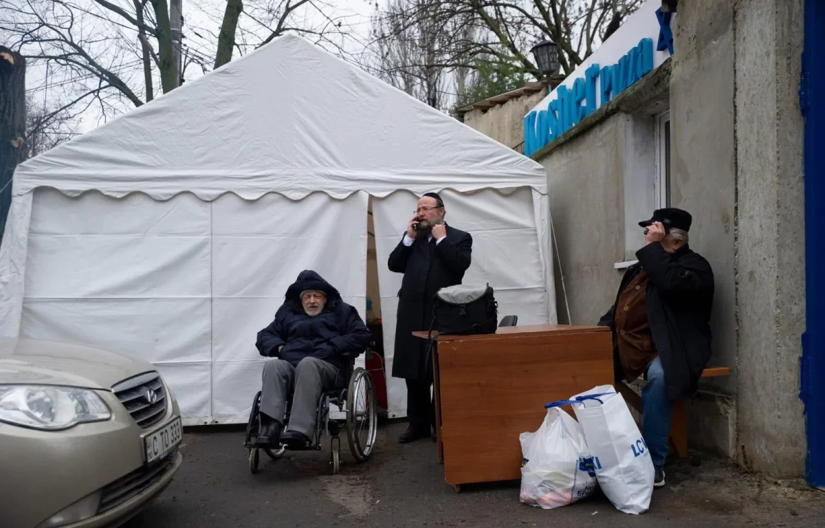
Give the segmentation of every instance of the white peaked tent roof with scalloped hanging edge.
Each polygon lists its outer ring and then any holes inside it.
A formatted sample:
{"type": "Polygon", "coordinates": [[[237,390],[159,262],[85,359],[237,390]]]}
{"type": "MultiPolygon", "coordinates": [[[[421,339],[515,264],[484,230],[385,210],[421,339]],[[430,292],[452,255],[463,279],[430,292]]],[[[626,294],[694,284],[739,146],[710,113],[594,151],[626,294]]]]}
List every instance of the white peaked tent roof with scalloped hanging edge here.
{"type": "Polygon", "coordinates": [[[298,199],[530,186],[544,169],[296,35],[17,167],[14,194],[298,199]]]}

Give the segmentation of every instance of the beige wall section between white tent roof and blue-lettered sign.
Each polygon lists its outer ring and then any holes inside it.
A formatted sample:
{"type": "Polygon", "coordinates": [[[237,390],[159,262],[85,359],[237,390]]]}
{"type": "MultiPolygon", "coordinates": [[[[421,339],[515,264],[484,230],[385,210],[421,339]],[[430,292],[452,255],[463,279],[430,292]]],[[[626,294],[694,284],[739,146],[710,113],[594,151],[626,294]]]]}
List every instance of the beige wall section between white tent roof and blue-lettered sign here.
{"type": "Polygon", "coordinates": [[[547,96],[547,89],[493,106],[487,111],[474,110],[464,114],[464,125],[479,130],[498,143],[516,148],[524,143],[524,116],[547,96]]]}

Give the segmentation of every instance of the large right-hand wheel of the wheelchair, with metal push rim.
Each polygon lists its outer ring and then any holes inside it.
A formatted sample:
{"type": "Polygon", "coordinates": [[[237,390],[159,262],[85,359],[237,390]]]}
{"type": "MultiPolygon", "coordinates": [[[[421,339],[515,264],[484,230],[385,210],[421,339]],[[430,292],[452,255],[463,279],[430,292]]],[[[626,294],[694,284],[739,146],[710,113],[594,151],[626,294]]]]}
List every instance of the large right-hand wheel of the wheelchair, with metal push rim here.
{"type": "Polygon", "coordinates": [[[378,434],[378,402],[369,372],[357,368],[347,389],[347,441],[352,456],[363,462],[370,458],[378,434]]]}

